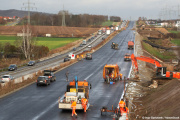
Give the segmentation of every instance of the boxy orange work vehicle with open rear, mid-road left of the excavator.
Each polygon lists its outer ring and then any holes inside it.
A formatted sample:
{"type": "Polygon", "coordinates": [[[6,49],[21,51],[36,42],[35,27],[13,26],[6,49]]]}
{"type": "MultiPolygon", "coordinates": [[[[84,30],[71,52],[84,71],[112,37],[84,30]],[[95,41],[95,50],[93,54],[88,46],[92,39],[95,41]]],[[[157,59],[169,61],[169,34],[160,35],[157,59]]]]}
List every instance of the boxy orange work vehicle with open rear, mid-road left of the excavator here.
{"type": "Polygon", "coordinates": [[[119,71],[120,68],[117,64],[106,64],[103,69],[104,82],[113,84],[118,80],[122,80],[122,74],[119,71]]]}

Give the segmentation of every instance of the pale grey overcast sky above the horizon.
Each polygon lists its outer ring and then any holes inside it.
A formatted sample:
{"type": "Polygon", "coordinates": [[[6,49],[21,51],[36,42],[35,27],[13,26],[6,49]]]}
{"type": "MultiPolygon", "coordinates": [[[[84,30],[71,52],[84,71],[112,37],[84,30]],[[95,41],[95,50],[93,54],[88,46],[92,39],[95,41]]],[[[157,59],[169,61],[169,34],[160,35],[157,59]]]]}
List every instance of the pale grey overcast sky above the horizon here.
{"type": "MultiPolygon", "coordinates": [[[[0,0],[0,9],[21,10],[21,7],[27,6],[23,5],[27,1],[0,0]]],[[[171,12],[169,10],[166,12],[166,17],[173,18],[173,16],[177,17],[178,4],[180,5],[180,0],[30,0],[30,2],[35,3],[31,6],[36,7],[38,12],[57,14],[64,5],[64,9],[73,14],[113,15],[122,19],[130,19],[130,17],[137,19],[139,16],[159,18],[160,11],[166,7],[171,9],[171,12]]]]}

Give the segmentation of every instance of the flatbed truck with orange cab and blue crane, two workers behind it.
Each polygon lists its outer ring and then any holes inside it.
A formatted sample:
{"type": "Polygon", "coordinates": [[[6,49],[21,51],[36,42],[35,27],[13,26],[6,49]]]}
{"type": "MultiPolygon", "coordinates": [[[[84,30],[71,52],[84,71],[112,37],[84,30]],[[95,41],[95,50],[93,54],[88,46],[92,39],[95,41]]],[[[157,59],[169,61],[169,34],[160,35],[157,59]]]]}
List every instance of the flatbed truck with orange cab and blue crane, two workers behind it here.
{"type": "MultiPolygon", "coordinates": [[[[67,85],[67,90],[65,95],[59,98],[59,109],[72,109],[71,108],[71,101],[76,101],[76,109],[77,110],[84,110],[82,107],[81,99],[86,98],[89,99],[89,89],[91,89],[91,84],[89,84],[86,80],[78,81],[77,76],[75,80],[70,82],[67,85]]],[[[87,109],[89,108],[90,104],[87,104],[87,109]]]]}

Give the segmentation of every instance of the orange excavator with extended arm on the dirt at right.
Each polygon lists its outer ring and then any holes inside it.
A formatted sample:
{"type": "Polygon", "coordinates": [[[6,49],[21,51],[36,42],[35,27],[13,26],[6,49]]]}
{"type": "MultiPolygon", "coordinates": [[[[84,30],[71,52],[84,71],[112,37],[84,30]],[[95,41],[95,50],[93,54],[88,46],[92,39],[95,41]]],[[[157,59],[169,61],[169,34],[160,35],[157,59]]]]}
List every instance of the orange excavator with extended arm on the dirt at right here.
{"type": "Polygon", "coordinates": [[[140,56],[140,57],[135,57],[134,54],[131,55],[131,60],[132,60],[132,65],[135,66],[135,71],[136,74],[138,74],[138,64],[137,64],[137,60],[141,60],[141,61],[145,61],[151,64],[154,64],[155,67],[157,67],[156,69],[156,74],[153,77],[153,79],[158,80],[158,79],[172,79],[172,78],[178,78],[180,79],[180,72],[173,72],[173,71],[167,71],[166,67],[162,67],[162,65],[157,61],[154,60],[152,58],[149,57],[145,57],[145,56],[140,56]]]}

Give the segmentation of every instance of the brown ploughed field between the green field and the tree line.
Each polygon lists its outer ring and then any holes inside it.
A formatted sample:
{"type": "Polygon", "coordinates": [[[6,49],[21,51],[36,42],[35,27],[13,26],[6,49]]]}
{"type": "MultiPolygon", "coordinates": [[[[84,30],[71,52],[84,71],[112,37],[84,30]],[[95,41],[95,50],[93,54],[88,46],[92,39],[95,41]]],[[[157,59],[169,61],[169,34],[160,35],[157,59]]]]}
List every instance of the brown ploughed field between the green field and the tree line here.
{"type": "MultiPolygon", "coordinates": [[[[31,26],[33,34],[45,36],[51,34],[55,37],[87,36],[99,30],[99,28],[63,27],[63,26],[31,26]]],[[[23,26],[0,26],[1,35],[17,35],[22,33],[23,26]]]]}

